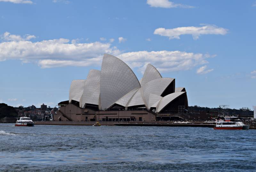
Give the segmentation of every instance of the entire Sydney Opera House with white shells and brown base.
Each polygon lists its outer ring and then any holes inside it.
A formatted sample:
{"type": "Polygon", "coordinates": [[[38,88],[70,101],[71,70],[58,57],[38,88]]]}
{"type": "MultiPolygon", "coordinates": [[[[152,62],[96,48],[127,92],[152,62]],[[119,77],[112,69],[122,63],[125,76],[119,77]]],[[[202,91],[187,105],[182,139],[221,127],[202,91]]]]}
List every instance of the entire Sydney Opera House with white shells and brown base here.
{"type": "Polygon", "coordinates": [[[175,88],[174,78],[163,78],[148,64],[139,81],[122,60],[105,54],[101,71],[72,81],[69,100],[59,103],[54,121],[170,120],[187,108],[186,90],[175,88]]]}

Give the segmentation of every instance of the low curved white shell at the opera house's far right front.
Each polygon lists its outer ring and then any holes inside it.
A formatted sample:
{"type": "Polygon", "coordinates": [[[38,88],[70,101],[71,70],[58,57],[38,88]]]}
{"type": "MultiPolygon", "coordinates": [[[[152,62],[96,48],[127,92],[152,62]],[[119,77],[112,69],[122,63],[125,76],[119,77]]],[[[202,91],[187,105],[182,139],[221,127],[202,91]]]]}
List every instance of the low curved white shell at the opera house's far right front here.
{"type": "Polygon", "coordinates": [[[165,106],[170,104],[174,99],[178,98],[182,94],[185,94],[186,92],[175,92],[172,94],[168,94],[167,96],[164,96],[158,105],[156,106],[156,113],[161,112],[165,106]]]}

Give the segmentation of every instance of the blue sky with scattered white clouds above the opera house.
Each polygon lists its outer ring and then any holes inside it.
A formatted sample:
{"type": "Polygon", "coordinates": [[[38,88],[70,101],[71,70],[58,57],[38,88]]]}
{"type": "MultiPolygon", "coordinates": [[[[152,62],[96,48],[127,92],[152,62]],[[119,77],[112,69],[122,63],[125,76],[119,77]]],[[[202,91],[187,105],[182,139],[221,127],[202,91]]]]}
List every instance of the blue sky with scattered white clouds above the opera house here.
{"type": "Polygon", "coordinates": [[[256,1],[0,0],[0,102],[55,106],[104,53],[151,63],[189,106],[256,105],[256,1]]]}

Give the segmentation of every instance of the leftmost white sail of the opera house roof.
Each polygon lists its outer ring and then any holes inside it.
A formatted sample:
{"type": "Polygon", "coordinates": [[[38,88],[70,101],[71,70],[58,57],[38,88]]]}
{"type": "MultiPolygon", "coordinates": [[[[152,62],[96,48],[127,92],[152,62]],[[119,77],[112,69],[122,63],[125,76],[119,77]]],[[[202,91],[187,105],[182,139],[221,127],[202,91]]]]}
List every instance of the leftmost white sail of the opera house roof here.
{"type": "Polygon", "coordinates": [[[70,85],[69,89],[69,102],[71,100],[75,100],[80,102],[80,99],[83,95],[83,90],[84,90],[84,84],[86,80],[73,80],[70,85]]]}

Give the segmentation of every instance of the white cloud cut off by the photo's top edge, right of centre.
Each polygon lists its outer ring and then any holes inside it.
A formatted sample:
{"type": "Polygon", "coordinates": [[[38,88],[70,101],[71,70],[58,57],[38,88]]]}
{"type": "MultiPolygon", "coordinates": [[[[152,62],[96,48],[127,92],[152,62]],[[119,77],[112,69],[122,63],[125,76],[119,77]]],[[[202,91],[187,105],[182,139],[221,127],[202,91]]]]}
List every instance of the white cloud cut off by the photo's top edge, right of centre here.
{"type": "Polygon", "coordinates": [[[147,0],[147,4],[151,7],[161,7],[161,8],[194,8],[190,5],[183,5],[183,4],[175,4],[169,0],[147,0]]]}

